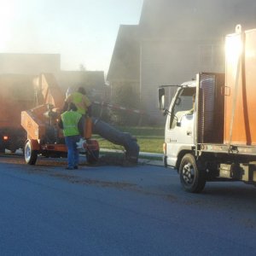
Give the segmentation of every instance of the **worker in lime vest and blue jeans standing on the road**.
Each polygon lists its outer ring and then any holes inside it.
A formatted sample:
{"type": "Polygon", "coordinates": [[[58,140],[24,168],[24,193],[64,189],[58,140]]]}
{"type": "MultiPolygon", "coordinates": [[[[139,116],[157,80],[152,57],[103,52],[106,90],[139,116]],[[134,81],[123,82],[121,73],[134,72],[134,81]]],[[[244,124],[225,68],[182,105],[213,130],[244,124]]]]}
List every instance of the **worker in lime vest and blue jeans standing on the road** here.
{"type": "Polygon", "coordinates": [[[60,127],[63,129],[65,143],[67,145],[67,168],[68,170],[79,168],[79,149],[77,143],[80,133],[83,131],[82,115],[77,112],[78,108],[69,103],[68,110],[61,113],[60,127]]]}

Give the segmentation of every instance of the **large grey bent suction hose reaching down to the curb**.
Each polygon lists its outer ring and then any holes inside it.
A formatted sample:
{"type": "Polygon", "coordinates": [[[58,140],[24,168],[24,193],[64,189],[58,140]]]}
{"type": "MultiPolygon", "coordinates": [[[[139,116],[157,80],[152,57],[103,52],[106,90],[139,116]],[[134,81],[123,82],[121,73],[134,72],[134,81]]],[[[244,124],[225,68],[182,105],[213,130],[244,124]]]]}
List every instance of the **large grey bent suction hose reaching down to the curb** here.
{"type": "Polygon", "coordinates": [[[109,142],[121,145],[126,150],[126,160],[137,163],[140,148],[137,140],[130,133],[117,130],[100,119],[92,118],[93,132],[107,139],[109,142]]]}

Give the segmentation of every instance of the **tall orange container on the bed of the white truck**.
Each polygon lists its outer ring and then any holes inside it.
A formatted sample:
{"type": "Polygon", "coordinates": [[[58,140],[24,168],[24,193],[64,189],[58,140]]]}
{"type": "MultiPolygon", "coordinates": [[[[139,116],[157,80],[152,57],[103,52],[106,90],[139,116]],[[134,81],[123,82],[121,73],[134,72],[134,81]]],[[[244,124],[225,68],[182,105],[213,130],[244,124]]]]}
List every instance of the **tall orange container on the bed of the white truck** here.
{"type": "Polygon", "coordinates": [[[256,145],[256,29],[226,37],[224,143],[256,145]]]}

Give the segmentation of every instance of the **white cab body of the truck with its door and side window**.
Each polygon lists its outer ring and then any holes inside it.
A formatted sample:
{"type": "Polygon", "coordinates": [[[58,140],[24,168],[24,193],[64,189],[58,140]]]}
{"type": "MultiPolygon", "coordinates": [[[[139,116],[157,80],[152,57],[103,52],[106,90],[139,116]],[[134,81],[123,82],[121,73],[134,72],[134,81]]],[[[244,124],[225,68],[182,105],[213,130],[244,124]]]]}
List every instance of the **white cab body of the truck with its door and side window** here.
{"type": "Polygon", "coordinates": [[[195,87],[177,90],[166,119],[166,163],[175,166],[177,154],[195,145],[195,87]],[[194,102],[193,102],[194,99],[194,102]]]}

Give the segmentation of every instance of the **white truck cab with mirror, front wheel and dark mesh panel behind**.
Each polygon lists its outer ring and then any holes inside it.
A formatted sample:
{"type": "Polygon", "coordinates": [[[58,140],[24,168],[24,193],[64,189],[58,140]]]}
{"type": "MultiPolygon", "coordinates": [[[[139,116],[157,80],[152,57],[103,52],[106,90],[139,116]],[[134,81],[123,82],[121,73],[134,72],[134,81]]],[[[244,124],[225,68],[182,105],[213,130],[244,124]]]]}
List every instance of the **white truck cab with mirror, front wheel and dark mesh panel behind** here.
{"type": "Polygon", "coordinates": [[[219,176],[218,159],[205,148],[224,142],[224,74],[198,73],[194,81],[176,85],[169,108],[167,86],[159,88],[159,107],[167,115],[164,166],[177,169],[183,189],[198,193],[219,176]]]}

